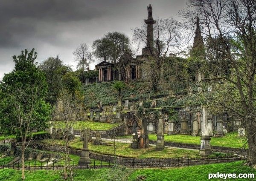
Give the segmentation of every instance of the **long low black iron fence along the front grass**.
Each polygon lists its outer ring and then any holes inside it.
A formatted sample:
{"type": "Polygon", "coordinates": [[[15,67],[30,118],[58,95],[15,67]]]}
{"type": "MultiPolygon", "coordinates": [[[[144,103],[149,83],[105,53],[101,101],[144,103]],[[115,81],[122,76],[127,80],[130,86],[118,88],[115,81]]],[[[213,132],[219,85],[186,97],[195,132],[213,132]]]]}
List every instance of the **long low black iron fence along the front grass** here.
{"type": "MultiPolygon", "coordinates": [[[[99,169],[113,166],[122,166],[129,168],[170,168],[170,167],[189,167],[192,165],[215,164],[239,161],[240,158],[214,158],[214,159],[197,159],[197,158],[122,158],[114,160],[90,160],[89,162],[70,161],[73,169],[99,169]]],[[[38,163],[29,162],[25,164],[26,170],[58,170],[64,167],[64,162],[55,163],[38,163]]],[[[68,163],[66,164],[68,165],[68,163]]],[[[20,163],[4,163],[0,168],[21,169],[20,163]]]]}

